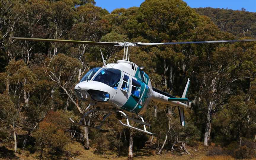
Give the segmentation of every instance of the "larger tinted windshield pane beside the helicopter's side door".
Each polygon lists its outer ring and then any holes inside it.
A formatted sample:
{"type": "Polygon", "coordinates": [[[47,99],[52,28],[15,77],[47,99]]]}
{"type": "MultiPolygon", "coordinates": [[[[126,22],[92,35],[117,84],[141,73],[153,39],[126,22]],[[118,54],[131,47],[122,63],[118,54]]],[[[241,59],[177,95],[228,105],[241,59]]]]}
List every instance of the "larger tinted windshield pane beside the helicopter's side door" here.
{"type": "Polygon", "coordinates": [[[100,72],[95,76],[93,81],[98,81],[108,86],[111,86],[114,89],[117,89],[119,81],[121,79],[121,71],[114,68],[103,68],[100,72]]]}

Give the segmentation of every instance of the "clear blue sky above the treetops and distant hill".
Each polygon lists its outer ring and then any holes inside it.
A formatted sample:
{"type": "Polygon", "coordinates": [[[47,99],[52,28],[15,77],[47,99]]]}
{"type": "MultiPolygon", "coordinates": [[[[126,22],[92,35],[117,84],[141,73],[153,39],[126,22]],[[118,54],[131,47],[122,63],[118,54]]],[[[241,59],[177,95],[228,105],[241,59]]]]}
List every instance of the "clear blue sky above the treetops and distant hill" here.
{"type": "MultiPolygon", "coordinates": [[[[132,6],[140,6],[144,0],[95,0],[96,6],[100,6],[113,11],[116,8],[129,8],[132,6]]],[[[240,10],[242,7],[249,12],[256,12],[256,0],[183,0],[190,7],[212,7],[212,8],[227,8],[240,10]]]]}

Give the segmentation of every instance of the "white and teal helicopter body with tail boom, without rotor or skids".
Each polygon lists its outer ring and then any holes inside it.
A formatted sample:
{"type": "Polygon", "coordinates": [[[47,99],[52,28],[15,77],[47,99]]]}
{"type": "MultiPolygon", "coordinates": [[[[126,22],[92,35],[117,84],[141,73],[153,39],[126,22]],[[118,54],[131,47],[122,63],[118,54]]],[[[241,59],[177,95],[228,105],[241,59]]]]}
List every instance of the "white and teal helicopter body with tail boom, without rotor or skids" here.
{"type": "MultiPolygon", "coordinates": [[[[156,102],[188,107],[171,100],[172,97],[155,92],[148,75],[135,63],[119,60],[102,68],[93,68],[74,88],[76,97],[105,109],[118,109],[132,114],[143,114],[153,99],[156,102]]],[[[175,97],[175,99],[177,99],[175,97]]]]}

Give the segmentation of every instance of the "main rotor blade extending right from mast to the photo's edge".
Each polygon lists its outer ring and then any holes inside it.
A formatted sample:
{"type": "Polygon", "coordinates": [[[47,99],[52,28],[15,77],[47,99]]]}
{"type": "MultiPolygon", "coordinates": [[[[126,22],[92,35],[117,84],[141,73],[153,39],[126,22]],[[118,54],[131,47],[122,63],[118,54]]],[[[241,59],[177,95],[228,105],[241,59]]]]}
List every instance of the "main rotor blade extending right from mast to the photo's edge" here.
{"type": "Polygon", "coordinates": [[[169,43],[134,43],[137,46],[144,45],[174,45],[174,44],[192,44],[192,43],[226,43],[226,42],[252,42],[256,39],[248,40],[214,40],[214,41],[199,41],[199,42],[169,42],[169,43]]]}

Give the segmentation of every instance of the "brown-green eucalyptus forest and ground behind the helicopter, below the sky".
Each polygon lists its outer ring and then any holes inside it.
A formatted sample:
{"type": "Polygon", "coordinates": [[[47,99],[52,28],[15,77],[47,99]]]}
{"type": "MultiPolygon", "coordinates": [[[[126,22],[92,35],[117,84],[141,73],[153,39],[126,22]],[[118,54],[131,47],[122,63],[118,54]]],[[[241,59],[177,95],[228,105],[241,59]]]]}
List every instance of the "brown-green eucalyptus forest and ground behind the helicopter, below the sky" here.
{"type": "Polygon", "coordinates": [[[88,106],[76,99],[74,86],[102,66],[100,49],[112,63],[123,58],[124,48],[11,38],[253,39],[256,13],[192,9],[182,0],[145,0],[111,13],[95,4],[0,0],[0,159],[256,158],[256,42],[129,48],[130,61],[145,68],[153,87],[180,97],[189,78],[188,98],[197,102],[185,110],[185,126],[177,107],[151,102],[143,114],[157,135],[150,136],[121,126],[115,116],[103,125],[108,133],[68,121],[79,121],[88,106]]]}

